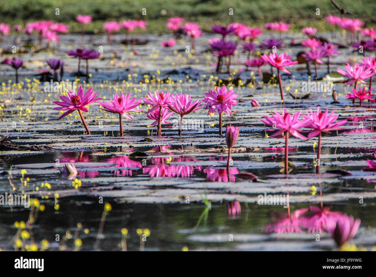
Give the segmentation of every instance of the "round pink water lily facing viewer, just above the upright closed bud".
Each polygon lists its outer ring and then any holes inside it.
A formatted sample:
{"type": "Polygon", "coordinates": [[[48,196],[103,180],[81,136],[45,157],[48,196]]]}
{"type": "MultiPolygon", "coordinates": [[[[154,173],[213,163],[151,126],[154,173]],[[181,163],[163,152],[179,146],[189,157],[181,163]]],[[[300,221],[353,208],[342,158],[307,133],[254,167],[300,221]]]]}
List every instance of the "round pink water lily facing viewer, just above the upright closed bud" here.
{"type": "Polygon", "coordinates": [[[215,87],[214,90],[209,90],[209,92],[205,93],[205,98],[202,99],[204,103],[206,103],[205,109],[208,109],[208,115],[210,113],[214,113],[216,110],[219,113],[219,135],[222,135],[222,113],[226,112],[227,115],[231,116],[231,109],[233,105],[236,105],[238,101],[235,99],[238,97],[233,90],[227,91],[225,85],[220,87],[215,87]]]}

